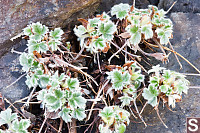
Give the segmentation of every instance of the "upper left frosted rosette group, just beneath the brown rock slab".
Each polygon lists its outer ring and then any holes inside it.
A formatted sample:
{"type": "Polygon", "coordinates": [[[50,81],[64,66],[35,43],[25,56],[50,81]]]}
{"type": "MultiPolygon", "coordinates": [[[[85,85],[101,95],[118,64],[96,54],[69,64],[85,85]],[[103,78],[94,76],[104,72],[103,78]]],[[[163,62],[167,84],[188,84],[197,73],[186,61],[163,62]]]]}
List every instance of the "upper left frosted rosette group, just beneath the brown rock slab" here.
{"type": "Polygon", "coordinates": [[[48,50],[57,50],[58,45],[61,44],[63,33],[63,30],[60,28],[49,31],[48,27],[39,22],[28,25],[24,28],[24,35],[29,36],[27,44],[29,53],[33,53],[33,51],[46,52],[48,50]]]}

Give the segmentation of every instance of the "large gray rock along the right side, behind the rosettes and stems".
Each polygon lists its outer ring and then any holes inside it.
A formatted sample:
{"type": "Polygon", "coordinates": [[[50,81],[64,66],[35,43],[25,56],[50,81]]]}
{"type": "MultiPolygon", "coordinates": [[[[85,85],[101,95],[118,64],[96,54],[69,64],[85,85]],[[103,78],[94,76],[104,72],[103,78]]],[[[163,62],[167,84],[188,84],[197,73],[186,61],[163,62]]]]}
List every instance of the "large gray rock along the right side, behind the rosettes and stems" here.
{"type": "MultiPolygon", "coordinates": [[[[174,22],[174,39],[171,43],[175,51],[187,58],[198,69],[200,69],[200,14],[196,13],[172,13],[170,18],[174,22]]],[[[170,62],[163,65],[170,70],[175,70],[181,73],[198,73],[188,63],[180,59],[183,69],[180,70],[179,65],[173,54],[169,57],[170,62]]],[[[197,76],[187,76],[191,82],[191,86],[199,86],[200,78],[197,76]]],[[[131,122],[127,127],[127,133],[185,133],[186,132],[186,117],[199,117],[200,113],[200,92],[197,89],[189,89],[187,95],[183,96],[180,103],[176,104],[174,109],[176,112],[169,111],[166,107],[160,104],[160,116],[168,126],[165,128],[158,119],[155,110],[147,106],[143,113],[144,119],[149,126],[144,129],[144,125],[131,122]]],[[[135,120],[134,120],[135,121],[135,120]]]]}

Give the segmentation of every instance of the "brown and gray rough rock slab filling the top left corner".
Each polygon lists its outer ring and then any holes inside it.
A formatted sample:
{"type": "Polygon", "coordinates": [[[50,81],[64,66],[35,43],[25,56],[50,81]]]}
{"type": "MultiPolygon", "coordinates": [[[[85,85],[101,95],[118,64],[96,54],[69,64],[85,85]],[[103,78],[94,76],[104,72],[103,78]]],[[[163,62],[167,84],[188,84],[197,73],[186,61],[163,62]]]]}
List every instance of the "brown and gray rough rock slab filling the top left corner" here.
{"type": "Polygon", "coordinates": [[[94,13],[100,0],[0,0],[0,56],[13,44],[9,39],[27,24],[40,21],[49,27],[67,27],[94,13]]]}

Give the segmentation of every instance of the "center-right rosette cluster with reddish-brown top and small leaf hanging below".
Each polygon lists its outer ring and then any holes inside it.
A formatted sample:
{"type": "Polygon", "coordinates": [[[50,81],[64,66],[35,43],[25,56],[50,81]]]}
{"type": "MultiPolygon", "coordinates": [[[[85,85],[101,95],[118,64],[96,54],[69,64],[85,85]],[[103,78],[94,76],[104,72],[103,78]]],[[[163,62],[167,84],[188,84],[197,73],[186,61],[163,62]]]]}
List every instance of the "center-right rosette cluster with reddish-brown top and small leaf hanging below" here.
{"type": "Polygon", "coordinates": [[[141,68],[135,62],[128,62],[123,67],[116,66],[115,69],[107,74],[112,83],[108,92],[113,89],[121,91],[123,96],[119,97],[119,99],[122,102],[122,106],[130,105],[131,101],[134,101],[137,96],[137,89],[144,81],[141,68]]]}

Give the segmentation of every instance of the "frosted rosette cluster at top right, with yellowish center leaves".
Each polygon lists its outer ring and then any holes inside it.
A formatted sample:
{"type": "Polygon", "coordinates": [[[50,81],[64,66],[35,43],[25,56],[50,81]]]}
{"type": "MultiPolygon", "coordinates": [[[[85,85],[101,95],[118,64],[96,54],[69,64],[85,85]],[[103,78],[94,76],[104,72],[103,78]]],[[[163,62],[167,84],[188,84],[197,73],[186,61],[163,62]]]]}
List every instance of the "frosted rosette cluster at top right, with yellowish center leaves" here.
{"type": "Polygon", "coordinates": [[[142,39],[157,37],[161,44],[167,44],[172,38],[172,21],[165,18],[166,12],[150,5],[148,9],[133,8],[128,4],[115,5],[111,15],[120,20],[127,19],[126,32],[130,36],[129,46],[138,45],[142,39]],[[154,35],[156,33],[156,36],[154,35]]]}

